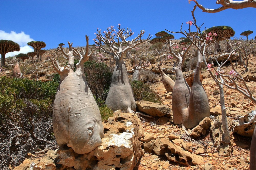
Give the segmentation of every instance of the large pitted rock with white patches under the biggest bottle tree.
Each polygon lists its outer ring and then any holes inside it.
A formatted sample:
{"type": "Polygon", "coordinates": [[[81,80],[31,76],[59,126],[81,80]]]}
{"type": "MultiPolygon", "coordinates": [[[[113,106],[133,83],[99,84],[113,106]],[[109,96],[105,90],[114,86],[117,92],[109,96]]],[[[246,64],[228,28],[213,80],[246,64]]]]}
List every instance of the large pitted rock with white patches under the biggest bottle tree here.
{"type": "Polygon", "coordinates": [[[133,113],[114,113],[105,120],[102,145],[87,154],[59,148],[57,164],[61,169],[132,170],[142,155],[139,138],[143,135],[140,119],[133,113]]]}

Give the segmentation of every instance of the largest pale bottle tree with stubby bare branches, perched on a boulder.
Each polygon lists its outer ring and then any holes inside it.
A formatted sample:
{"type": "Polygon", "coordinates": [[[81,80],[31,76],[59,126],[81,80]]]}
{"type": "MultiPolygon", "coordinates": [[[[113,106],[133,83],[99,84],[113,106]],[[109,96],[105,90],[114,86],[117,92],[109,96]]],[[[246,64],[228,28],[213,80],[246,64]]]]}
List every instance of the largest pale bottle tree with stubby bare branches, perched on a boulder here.
{"type": "Polygon", "coordinates": [[[78,154],[91,152],[101,145],[104,130],[100,110],[95,102],[84,75],[84,62],[91,56],[89,37],[86,36],[86,51],[73,48],[68,42],[69,52],[60,49],[68,65],[60,67],[54,55],[49,57],[53,67],[60,74],[56,92],[52,124],[56,141],[60,147],[68,146],[78,154]],[[82,54],[81,54],[82,53],[82,54]],[[74,72],[74,55],[79,62],[74,72]]]}

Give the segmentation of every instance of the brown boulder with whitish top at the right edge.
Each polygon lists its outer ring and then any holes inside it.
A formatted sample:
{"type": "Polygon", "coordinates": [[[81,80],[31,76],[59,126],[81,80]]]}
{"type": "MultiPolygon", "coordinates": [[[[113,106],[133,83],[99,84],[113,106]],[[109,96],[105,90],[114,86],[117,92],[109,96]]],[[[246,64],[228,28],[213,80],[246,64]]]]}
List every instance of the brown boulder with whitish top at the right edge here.
{"type": "Polygon", "coordinates": [[[234,123],[234,132],[246,137],[252,137],[256,125],[256,110],[244,114],[234,123]]]}

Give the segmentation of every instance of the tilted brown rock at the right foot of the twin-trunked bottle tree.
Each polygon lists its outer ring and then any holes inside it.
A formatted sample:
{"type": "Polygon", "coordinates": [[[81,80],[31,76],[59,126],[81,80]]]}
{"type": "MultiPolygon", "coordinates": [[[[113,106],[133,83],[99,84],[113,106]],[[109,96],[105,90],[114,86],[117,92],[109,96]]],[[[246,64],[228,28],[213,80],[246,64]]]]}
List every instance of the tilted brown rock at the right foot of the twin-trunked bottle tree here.
{"type": "Polygon", "coordinates": [[[190,136],[197,138],[201,135],[205,135],[206,130],[209,129],[210,125],[211,125],[211,119],[209,117],[204,118],[203,120],[201,120],[199,125],[197,125],[191,130],[190,136]]]}

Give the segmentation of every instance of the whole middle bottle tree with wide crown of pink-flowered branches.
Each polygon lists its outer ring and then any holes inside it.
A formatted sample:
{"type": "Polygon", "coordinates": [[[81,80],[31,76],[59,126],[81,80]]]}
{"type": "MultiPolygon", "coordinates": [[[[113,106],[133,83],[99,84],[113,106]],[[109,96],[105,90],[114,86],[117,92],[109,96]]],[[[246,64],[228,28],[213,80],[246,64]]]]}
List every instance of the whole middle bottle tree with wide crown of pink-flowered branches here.
{"type": "Polygon", "coordinates": [[[142,40],[144,33],[145,31],[141,30],[137,37],[128,41],[127,39],[134,33],[129,28],[121,28],[120,24],[118,24],[117,31],[111,26],[103,32],[97,29],[97,33],[95,33],[96,39],[94,41],[98,45],[98,49],[113,56],[116,62],[109,93],[105,101],[105,104],[113,111],[122,110],[122,112],[132,113],[136,110],[133,90],[123,57],[128,50],[150,39],[149,34],[145,40],[142,40]]]}

